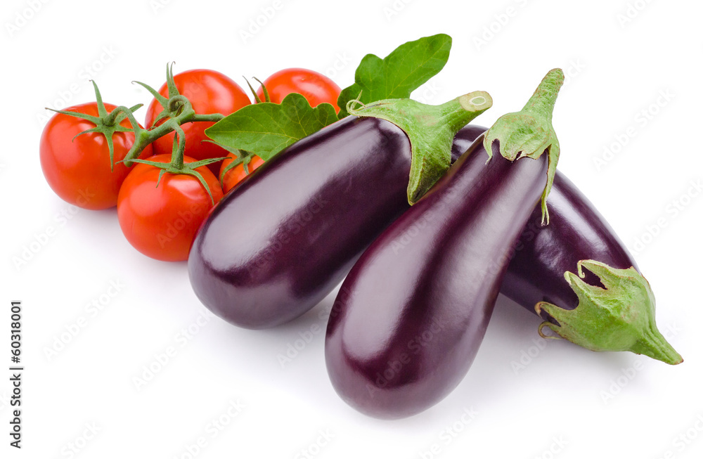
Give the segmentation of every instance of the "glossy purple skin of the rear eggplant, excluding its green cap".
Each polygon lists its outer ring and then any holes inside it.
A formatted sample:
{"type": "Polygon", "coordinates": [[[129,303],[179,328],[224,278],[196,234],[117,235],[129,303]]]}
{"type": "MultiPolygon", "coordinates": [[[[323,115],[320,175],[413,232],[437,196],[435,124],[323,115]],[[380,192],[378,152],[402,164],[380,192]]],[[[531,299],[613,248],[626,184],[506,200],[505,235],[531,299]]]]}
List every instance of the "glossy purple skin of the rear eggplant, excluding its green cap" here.
{"type": "MultiPolygon", "coordinates": [[[[454,137],[452,159],[456,160],[486,128],[468,125],[454,137]]],[[[557,171],[547,198],[550,223],[541,226],[542,212],[536,208],[522,231],[515,255],[503,280],[501,293],[536,313],[538,302],[575,309],[579,299],[564,273],[576,273],[576,263],[593,259],[614,268],[637,269],[625,245],[586,196],[557,171]]],[[[602,285],[590,271],[587,283],[602,285]]],[[[550,320],[546,312],[542,317],[550,320]]]]}

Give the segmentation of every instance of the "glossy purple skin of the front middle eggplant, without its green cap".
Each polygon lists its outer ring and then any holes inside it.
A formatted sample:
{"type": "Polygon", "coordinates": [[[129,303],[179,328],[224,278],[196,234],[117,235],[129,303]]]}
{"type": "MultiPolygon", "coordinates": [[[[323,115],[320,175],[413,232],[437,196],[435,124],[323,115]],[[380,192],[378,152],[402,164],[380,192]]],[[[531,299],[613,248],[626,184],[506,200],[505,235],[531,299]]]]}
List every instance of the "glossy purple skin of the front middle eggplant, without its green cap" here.
{"type": "Polygon", "coordinates": [[[546,185],[547,161],[481,141],[364,252],[330,314],[325,359],[344,401],[404,418],[462,380],[493,311],[508,254],[546,185]]]}

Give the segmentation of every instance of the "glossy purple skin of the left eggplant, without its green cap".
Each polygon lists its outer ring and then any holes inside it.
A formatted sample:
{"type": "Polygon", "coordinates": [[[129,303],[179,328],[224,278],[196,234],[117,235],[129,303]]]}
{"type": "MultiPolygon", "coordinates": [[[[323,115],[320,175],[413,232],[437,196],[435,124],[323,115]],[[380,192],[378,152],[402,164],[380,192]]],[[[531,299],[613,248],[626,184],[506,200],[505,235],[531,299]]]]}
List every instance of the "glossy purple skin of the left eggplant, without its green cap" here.
{"type": "Polygon", "coordinates": [[[395,124],[347,117],[233,188],[200,228],[188,273],[200,301],[245,328],[315,306],[408,209],[411,146],[395,124]]]}

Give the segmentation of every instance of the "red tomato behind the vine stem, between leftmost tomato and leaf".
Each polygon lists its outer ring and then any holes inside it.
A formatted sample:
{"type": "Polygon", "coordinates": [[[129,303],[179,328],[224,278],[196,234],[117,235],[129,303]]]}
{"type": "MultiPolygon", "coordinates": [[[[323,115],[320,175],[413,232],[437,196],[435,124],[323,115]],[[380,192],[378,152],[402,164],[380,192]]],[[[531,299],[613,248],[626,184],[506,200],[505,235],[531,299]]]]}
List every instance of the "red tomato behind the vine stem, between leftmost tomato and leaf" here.
{"type": "MultiPolygon", "coordinates": [[[[186,96],[191,101],[193,110],[200,115],[211,113],[221,113],[229,115],[236,112],[245,105],[250,105],[249,96],[244,90],[226,75],[214,70],[187,70],[186,72],[174,75],[176,88],[182,96],[186,96]]],[[[161,86],[159,93],[168,97],[168,87],[161,86]]],[[[146,125],[152,127],[154,119],[161,112],[161,104],[156,99],[151,101],[146,110],[146,125]]],[[[191,122],[181,126],[186,133],[185,155],[195,158],[195,160],[206,160],[212,157],[224,157],[226,150],[214,143],[203,142],[208,137],[205,129],[212,126],[213,122],[191,122]]],[[[163,136],[153,143],[155,155],[171,154],[173,148],[174,133],[163,136]]],[[[219,164],[210,164],[209,169],[213,174],[217,174],[219,164]]]]}

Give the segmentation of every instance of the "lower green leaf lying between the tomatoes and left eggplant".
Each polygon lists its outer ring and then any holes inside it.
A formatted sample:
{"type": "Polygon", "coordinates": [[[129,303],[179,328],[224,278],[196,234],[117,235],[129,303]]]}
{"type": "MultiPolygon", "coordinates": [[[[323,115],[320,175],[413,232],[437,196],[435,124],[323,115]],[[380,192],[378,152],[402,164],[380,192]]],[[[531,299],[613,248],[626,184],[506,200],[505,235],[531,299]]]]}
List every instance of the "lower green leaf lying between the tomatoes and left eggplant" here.
{"type": "Polygon", "coordinates": [[[298,93],[285,96],[280,104],[247,105],[228,115],[205,134],[228,148],[247,150],[268,161],[283,148],[337,121],[335,108],[321,103],[312,108],[298,93]]]}

